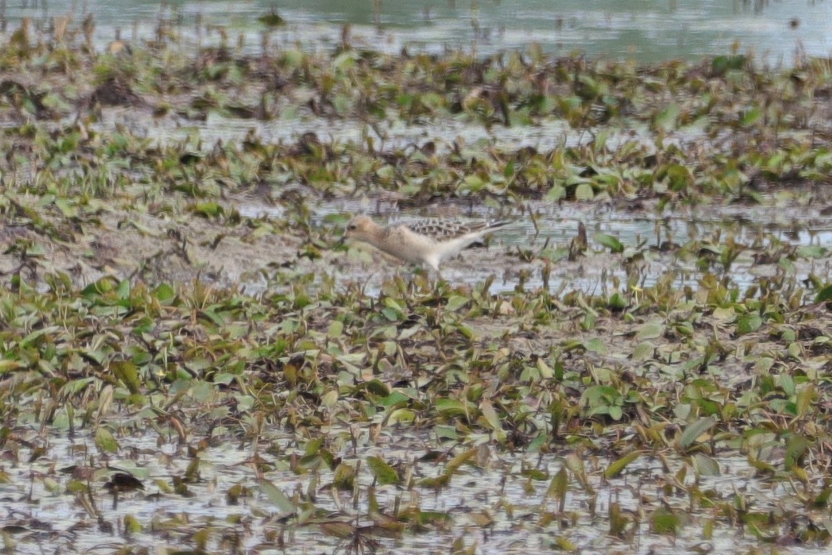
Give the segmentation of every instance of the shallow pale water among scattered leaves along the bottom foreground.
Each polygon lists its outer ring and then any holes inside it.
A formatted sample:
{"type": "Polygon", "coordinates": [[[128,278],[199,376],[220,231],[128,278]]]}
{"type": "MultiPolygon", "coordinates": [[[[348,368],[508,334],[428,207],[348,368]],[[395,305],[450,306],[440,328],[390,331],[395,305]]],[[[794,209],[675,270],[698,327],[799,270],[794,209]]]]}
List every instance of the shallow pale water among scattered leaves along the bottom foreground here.
{"type": "MultiPolygon", "coordinates": [[[[273,540],[267,539],[267,534],[281,529],[286,530],[285,548],[292,553],[296,549],[322,549],[331,553],[339,546],[339,540],[322,535],[318,525],[299,524],[295,518],[278,523],[276,517],[281,514],[280,508],[262,490],[260,478],[247,463],[254,454],[253,449],[237,448],[237,442],[230,437],[215,436],[215,446],[199,454],[201,479],[188,485],[192,497],[166,493],[162,484],[170,486],[171,477],[182,476],[192,459],[174,440],[159,438],[150,430],[151,426],[147,426],[144,432],[138,429],[127,434],[116,432],[120,450],[137,453],[137,456],[132,460],[111,458],[108,461],[111,467],[134,473],[140,478],[145,484],[144,492],[122,494],[117,508],[114,508],[111,497],[102,488],[106,472],[98,472],[97,477],[91,480],[92,501],[101,514],[100,522],[112,525],[112,531],[109,531],[100,529],[96,519],[87,515],[76,498],[65,491],[69,480],[67,474],[54,473],[55,466],[62,468],[71,463],[84,462],[83,457],[70,453],[73,452],[73,445],[75,452],[78,452],[80,445],[92,446],[94,440],[90,430],[80,429],[75,439],[67,440],[62,431],[47,427],[44,430],[48,434],[47,450],[32,464],[7,467],[10,480],[0,483],[0,496],[4,498],[8,515],[7,524],[25,523],[25,518],[35,518],[43,527],[37,530],[29,521],[26,531],[10,536],[9,539],[17,543],[13,553],[39,555],[52,553],[56,549],[61,549],[62,553],[112,553],[117,548],[131,545],[156,550],[183,549],[194,545],[192,535],[201,529],[210,531],[206,544],[209,553],[227,549],[221,538],[228,537],[234,537],[239,542],[243,553],[273,553],[277,546],[273,540]],[[46,478],[57,482],[55,493],[45,488],[46,478]],[[228,503],[225,498],[225,493],[235,484],[250,488],[251,492],[250,496],[240,498],[239,504],[228,503]],[[139,533],[125,533],[123,523],[128,515],[136,518],[145,528],[139,533]],[[77,523],[84,525],[79,527],[77,523]]],[[[37,429],[18,428],[17,432],[37,442],[37,429]]],[[[349,435],[340,427],[334,427],[329,432],[330,439],[339,434],[349,435]]],[[[39,435],[43,437],[42,433],[39,435]]],[[[383,434],[379,443],[373,444],[366,441],[366,435],[360,437],[357,451],[348,443],[343,451],[334,455],[343,456],[346,462],[354,464],[360,458],[384,453],[384,458],[391,462],[408,461],[417,479],[441,473],[441,466],[416,461],[424,452],[424,444],[429,444],[431,439],[412,434],[397,438],[383,434]]],[[[296,474],[286,468],[290,453],[303,454],[301,449],[292,447],[294,441],[293,434],[272,429],[268,437],[261,440],[260,447],[265,449],[271,444],[278,444],[280,456],[275,457],[264,450],[259,453],[263,462],[275,465],[275,468],[265,470],[262,479],[289,498],[295,492],[309,491],[312,476],[311,473],[296,474]]],[[[624,511],[631,514],[638,512],[643,503],[641,496],[654,498],[658,494],[656,483],[665,483],[668,476],[689,464],[685,457],[665,453],[665,460],[671,465],[668,472],[662,468],[659,459],[645,453],[629,464],[621,476],[605,480],[602,472],[611,460],[587,456],[584,458],[587,476],[592,488],[597,491],[597,498],[593,502],[591,496],[571,479],[561,517],[542,525],[542,513],[557,512],[557,500],[547,490],[550,478],[564,466],[564,457],[557,453],[509,453],[486,445],[488,440],[483,437],[478,463],[460,468],[441,493],[430,493],[425,488],[375,488],[379,505],[386,512],[392,511],[395,499],[399,498],[401,510],[414,503],[422,511],[438,511],[449,517],[447,524],[431,527],[425,533],[406,531],[399,538],[379,538],[379,553],[444,553],[448,543],[455,538],[465,538],[467,545],[478,542],[476,553],[528,553],[528,550],[551,549],[552,540],[556,537],[577,543],[582,547],[581,553],[612,553],[611,550],[616,548],[622,549],[622,553],[655,553],[651,549],[657,547],[694,550],[706,539],[701,535],[701,526],[713,515],[701,509],[688,512],[686,496],[668,496],[665,500],[667,506],[687,513],[691,518],[675,538],[653,534],[648,523],[643,522],[638,525],[631,541],[610,538],[605,535],[606,530],[599,533],[597,528],[599,519],[606,522],[610,503],[619,503],[624,511]],[[544,478],[527,476],[524,469],[530,468],[540,471],[544,478]],[[592,503],[595,504],[597,516],[592,516],[587,510],[592,503]],[[511,514],[507,508],[510,508],[511,514]],[[483,528],[482,521],[478,520],[478,515],[483,514],[492,520],[491,526],[483,528]]],[[[712,489],[721,492],[716,498],[726,503],[731,498],[731,492],[739,490],[747,503],[753,503],[755,510],[777,510],[775,508],[788,507],[790,496],[794,494],[784,484],[772,484],[767,478],[758,476],[747,458],[739,453],[721,455],[719,468],[718,476],[699,476],[696,483],[702,491],[712,489]]],[[[338,514],[339,518],[359,517],[361,523],[367,523],[366,498],[362,495],[359,503],[354,505],[352,493],[334,492],[326,487],[331,478],[328,470],[321,470],[312,501],[316,509],[331,515],[323,520],[338,514]]],[[[366,492],[373,482],[367,468],[362,468],[358,479],[362,492],[366,492]]],[[[691,476],[688,481],[692,479],[691,476]]],[[[301,520],[304,518],[308,516],[301,517],[301,520]]],[[[714,526],[713,537],[707,538],[707,542],[714,546],[714,553],[729,553],[741,548],[754,548],[758,540],[750,533],[737,535],[735,528],[724,519],[719,519],[714,526]]],[[[810,548],[792,547],[788,553],[816,552],[810,548]]]]}

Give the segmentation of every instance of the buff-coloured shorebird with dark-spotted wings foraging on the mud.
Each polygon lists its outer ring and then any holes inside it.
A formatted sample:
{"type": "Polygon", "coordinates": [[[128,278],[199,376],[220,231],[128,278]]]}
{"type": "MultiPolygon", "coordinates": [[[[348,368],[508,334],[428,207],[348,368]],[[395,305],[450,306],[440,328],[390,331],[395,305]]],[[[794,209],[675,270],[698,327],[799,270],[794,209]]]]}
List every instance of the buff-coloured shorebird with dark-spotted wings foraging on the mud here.
{"type": "Polygon", "coordinates": [[[482,239],[484,235],[508,225],[508,220],[460,221],[429,218],[411,223],[376,224],[369,216],[355,216],[347,224],[344,237],[369,243],[410,264],[427,265],[439,272],[443,260],[482,239]]]}

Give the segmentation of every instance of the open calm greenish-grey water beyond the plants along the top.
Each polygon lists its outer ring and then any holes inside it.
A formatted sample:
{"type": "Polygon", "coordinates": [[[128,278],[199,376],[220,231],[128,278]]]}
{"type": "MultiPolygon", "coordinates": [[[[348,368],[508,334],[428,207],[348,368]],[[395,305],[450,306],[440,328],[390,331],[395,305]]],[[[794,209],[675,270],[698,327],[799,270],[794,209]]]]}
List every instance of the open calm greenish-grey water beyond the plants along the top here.
{"type": "Polygon", "coordinates": [[[92,12],[97,37],[152,37],[161,18],[184,37],[211,41],[220,25],[260,47],[257,17],[277,6],[287,24],[272,42],[327,47],[349,23],[352,41],[389,52],[462,48],[481,54],[537,42],[555,54],[657,62],[754,52],[771,64],[832,54],[832,3],[826,0],[3,0],[6,32],[22,17],[46,27],[53,16],[92,12]],[[213,36],[212,36],[213,35],[213,36]]]}

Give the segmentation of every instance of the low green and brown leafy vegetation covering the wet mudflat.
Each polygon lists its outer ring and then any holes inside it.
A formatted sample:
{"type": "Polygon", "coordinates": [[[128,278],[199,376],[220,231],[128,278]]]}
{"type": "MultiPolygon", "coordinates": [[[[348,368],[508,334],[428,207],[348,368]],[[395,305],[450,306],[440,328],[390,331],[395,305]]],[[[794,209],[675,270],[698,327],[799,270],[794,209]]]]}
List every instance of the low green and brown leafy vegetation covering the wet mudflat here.
{"type": "Polygon", "coordinates": [[[830,543],[830,253],[789,240],[829,202],[829,60],[250,55],[163,28],[97,52],[91,26],[0,48],[8,553],[830,543]],[[364,198],[797,223],[635,245],[581,225],[501,252],[507,292],[369,292],[334,248],[347,216],[316,211],[364,198]],[[765,271],[739,285],[740,262],[765,271]],[[559,264],[597,288],[553,291],[559,264]]]}

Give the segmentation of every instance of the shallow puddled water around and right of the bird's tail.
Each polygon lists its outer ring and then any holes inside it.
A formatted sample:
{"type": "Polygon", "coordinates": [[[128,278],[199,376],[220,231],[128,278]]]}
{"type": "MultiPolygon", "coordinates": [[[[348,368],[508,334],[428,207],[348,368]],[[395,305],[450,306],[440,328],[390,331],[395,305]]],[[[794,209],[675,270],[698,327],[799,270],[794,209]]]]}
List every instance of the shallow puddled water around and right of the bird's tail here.
{"type": "MultiPolygon", "coordinates": [[[[243,216],[249,217],[280,218],[283,215],[280,207],[244,204],[238,208],[243,216]]],[[[832,244],[832,216],[821,216],[818,211],[809,211],[807,217],[807,211],[803,208],[783,208],[774,204],[756,207],[708,206],[685,212],[634,213],[626,208],[596,204],[553,206],[552,203],[531,202],[527,203],[527,210],[537,215],[537,228],[525,214],[500,212],[498,216],[501,219],[513,219],[513,224],[494,232],[488,251],[471,249],[464,251],[457,259],[445,261],[443,278],[454,284],[477,285],[487,280],[489,275],[494,275],[496,279],[491,287],[493,292],[512,291],[520,283],[519,272],[524,271],[524,286],[532,290],[540,289],[544,286],[542,260],[536,257],[536,260],[521,264],[518,263],[516,253],[518,250],[540,253],[544,245],[547,249],[566,248],[577,235],[580,224],[587,230],[587,255],[576,262],[557,260],[552,264],[548,280],[551,292],[580,290],[587,294],[598,294],[602,290],[615,290],[612,287],[613,279],[620,280],[626,289],[628,275],[624,255],[627,252],[635,254],[628,248],[637,249],[644,255],[644,260],[636,263],[638,279],[631,285],[650,287],[656,285],[656,281],[668,272],[673,272],[674,287],[696,286],[706,272],[697,268],[696,260],[680,259],[675,250],[658,250],[657,247],[664,241],[676,245],[686,245],[691,241],[720,245],[730,236],[736,243],[745,245],[747,249],[740,253],[730,270],[723,271],[718,265],[707,270],[716,275],[727,275],[730,282],[741,291],[754,285],[760,277],[775,275],[777,271],[775,264],[755,264],[755,252],[778,245],[800,247],[832,244]],[[606,247],[593,240],[597,233],[612,235],[620,240],[625,247],[624,255],[611,255],[606,247]],[[755,241],[759,246],[752,249],[755,241]]],[[[342,200],[317,206],[313,219],[321,224],[325,216],[339,212],[367,213],[380,223],[414,221],[424,216],[425,212],[433,215],[429,207],[426,211],[399,211],[389,203],[342,200]],[[379,208],[381,211],[378,211],[379,208]]],[[[497,215],[493,211],[482,206],[472,206],[460,210],[458,217],[465,220],[494,216],[497,215]]],[[[356,245],[353,249],[372,251],[371,247],[362,245],[356,245]]],[[[812,272],[821,279],[832,280],[828,258],[796,260],[795,267],[800,279],[812,272]]],[[[403,271],[401,266],[390,262],[364,265],[364,270],[361,268],[360,265],[350,266],[343,275],[339,275],[339,279],[363,282],[370,295],[378,292],[384,280],[403,271]]],[[[250,284],[250,287],[250,291],[256,292],[265,287],[265,284],[250,284]]]]}

